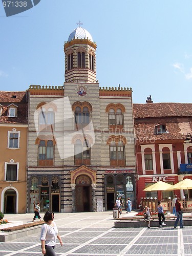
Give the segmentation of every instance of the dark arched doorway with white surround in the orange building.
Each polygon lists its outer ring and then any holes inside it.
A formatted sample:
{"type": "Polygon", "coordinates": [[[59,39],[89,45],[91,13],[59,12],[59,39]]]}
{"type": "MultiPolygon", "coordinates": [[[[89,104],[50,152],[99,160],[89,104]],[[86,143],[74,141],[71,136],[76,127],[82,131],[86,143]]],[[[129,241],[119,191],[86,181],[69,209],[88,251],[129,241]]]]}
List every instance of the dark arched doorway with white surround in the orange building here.
{"type": "Polygon", "coordinates": [[[16,192],[14,189],[7,189],[4,196],[5,214],[16,214],[16,192]]]}

